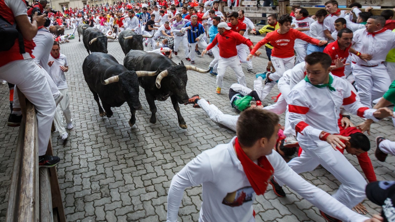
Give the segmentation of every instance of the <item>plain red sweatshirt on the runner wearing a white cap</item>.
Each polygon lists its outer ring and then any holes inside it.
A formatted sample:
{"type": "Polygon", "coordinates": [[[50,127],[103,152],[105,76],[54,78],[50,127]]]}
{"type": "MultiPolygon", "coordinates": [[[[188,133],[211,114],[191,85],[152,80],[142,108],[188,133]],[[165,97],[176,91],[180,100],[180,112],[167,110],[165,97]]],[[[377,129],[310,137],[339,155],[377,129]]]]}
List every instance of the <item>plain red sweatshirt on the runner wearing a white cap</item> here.
{"type": "Polygon", "coordinates": [[[212,49],[218,43],[218,48],[220,49],[220,56],[222,58],[230,58],[237,56],[236,45],[241,43],[246,44],[250,47],[252,42],[249,39],[244,38],[237,32],[231,30],[226,30],[222,35],[218,33],[215,36],[213,42],[207,46],[207,50],[212,49]]]}

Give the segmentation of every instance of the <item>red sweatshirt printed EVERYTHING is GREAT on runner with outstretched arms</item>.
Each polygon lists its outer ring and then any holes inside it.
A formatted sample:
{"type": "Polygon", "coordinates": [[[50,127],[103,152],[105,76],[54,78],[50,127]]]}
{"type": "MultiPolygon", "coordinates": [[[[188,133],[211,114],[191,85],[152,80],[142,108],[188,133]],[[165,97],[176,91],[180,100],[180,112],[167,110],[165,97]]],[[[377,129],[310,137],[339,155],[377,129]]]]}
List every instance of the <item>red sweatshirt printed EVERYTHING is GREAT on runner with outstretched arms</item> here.
{"type": "Polygon", "coordinates": [[[299,32],[293,28],[291,28],[286,34],[279,34],[278,31],[280,30],[268,33],[263,40],[256,43],[254,49],[251,50],[251,54],[254,55],[262,45],[270,42],[273,45],[272,56],[278,58],[289,58],[295,55],[295,53],[293,53],[295,39],[301,39],[313,45],[318,45],[320,42],[320,40],[311,38],[303,32],[299,32]]]}

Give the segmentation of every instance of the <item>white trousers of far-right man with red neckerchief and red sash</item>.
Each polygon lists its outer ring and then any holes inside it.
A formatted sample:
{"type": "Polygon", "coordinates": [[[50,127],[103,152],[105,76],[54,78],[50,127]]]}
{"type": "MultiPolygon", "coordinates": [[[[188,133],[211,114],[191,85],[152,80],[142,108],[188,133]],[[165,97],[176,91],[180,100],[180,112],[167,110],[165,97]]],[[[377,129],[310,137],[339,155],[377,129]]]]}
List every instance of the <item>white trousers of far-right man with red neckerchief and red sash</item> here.
{"type": "Polygon", "coordinates": [[[378,99],[387,92],[391,80],[384,64],[375,67],[359,66],[352,64],[352,74],[358,87],[361,103],[372,107],[372,100],[378,99]]]}

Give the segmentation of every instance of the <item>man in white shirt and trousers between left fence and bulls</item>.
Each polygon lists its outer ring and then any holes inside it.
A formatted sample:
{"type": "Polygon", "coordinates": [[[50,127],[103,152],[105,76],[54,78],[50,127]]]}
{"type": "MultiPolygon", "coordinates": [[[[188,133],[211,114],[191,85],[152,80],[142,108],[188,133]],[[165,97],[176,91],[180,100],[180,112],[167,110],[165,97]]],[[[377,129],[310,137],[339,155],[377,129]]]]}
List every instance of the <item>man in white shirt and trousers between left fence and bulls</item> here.
{"type": "Polygon", "coordinates": [[[60,46],[56,41],[53,43],[51,55],[49,55],[48,61],[48,66],[50,67],[49,75],[58,87],[58,90],[63,94],[63,99],[60,100],[59,105],[56,107],[54,122],[56,129],[62,136],[62,140],[65,141],[68,137],[68,133],[64,128],[60,111],[63,112],[63,116],[66,119],[67,129],[71,130],[71,128],[73,128],[73,123],[71,122],[67,81],[66,76],[64,75],[64,72],[69,70],[69,64],[67,62],[66,56],[60,53],[60,46]]]}

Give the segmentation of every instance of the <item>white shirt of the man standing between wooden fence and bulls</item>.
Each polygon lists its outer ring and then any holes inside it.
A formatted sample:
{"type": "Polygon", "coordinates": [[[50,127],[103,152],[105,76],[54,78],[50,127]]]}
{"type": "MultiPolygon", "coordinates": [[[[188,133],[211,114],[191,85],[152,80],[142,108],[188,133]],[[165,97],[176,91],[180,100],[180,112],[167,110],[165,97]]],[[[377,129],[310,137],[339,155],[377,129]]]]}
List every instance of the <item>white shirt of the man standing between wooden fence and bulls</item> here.
{"type": "Polygon", "coordinates": [[[59,66],[69,66],[67,62],[67,58],[65,55],[60,53],[59,58],[54,58],[52,55],[49,55],[48,61],[54,61],[52,66],[49,67],[49,76],[51,76],[52,80],[55,82],[58,89],[67,88],[67,81],[64,72],[60,69],[59,66]]]}

